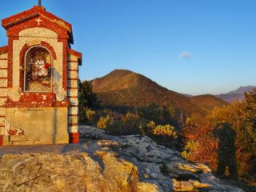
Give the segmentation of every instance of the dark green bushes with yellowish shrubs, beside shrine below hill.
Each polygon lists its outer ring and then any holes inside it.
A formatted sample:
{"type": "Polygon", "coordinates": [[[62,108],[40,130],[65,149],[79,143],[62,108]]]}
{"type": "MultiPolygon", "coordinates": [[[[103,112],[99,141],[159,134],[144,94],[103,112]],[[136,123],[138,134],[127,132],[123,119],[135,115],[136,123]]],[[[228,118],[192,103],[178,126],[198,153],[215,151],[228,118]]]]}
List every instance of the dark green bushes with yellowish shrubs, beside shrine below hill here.
{"type": "Polygon", "coordinates": [[[98,126],[114,135],[146,134],[166,146],[177,146],[174,127],[179,127],[180,122],[174,107],[150,103],[127,111],[107,109],[98,103],[92,84],[79,82],[79,119],[83,124],[98,126]]]}

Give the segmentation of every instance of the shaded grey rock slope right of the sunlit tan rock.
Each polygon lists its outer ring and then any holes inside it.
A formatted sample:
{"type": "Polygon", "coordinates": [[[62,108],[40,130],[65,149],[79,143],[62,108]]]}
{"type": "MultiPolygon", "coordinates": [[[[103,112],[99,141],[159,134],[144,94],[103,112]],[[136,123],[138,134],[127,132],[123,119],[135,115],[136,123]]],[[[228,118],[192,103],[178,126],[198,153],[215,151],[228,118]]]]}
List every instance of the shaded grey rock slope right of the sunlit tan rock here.
{"type": "Polygon", "coordinates": [[[101,146],[132,162],[138,167],[140,181],[155,183],[158,191],[242,191],[221,182],[208,166],[187,162],[177,150],[160,146],[147,136],[115,137],[90,126],[81,127],[80,134],[85,141],[98,140],[101,146]]]}

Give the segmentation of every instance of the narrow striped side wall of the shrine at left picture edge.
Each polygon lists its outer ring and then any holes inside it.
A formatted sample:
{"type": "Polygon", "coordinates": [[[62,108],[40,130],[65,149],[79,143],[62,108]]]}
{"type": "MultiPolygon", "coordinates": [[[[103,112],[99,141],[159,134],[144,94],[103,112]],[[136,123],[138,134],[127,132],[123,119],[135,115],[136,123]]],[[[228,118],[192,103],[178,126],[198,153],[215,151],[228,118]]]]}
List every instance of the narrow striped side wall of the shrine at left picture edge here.
{"type": "Polygon", "coordinates": [[[2,107],[7,99],[8,54],[0,54],[0,135],[6,133],[6,114],[2,107]]]}

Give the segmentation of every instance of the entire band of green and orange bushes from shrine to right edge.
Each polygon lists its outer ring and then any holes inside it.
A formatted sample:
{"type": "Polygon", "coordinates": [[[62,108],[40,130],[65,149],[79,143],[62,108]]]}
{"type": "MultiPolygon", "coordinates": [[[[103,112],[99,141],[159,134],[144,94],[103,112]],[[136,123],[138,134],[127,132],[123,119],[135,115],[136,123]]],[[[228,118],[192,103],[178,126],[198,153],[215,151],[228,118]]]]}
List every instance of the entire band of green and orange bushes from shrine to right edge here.
{"type": "Polygon", "coordinates": [[[99,106],[91,83],[79,82],[79,118],[109,134],[146,134],[183,149],[183,158],[206,162],[220,175],[256,185],[256,90],[245,96],[243,102],[186,118],[174,106],[156,103],[125,110],[99,106]]]}

